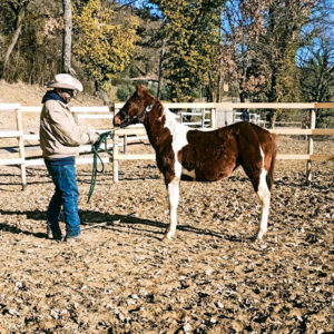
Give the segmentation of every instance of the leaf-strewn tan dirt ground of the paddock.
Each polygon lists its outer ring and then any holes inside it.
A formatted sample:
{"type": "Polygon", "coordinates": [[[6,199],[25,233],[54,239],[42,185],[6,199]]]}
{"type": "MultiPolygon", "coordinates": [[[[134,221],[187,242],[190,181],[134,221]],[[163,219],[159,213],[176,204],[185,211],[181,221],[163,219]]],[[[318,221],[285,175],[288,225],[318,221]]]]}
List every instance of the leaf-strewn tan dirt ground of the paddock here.
{"type": "MultiPolygon", "coordinates": [[[[281,140],[279,151],[305,151],[281,140]]],[[[333,153],[333,141],[316,143],[333,153]]],[[[154,161],[98,176],[78,166],[81,242],[46,238],[52,184],[45,167],[0,168],[0,333],[330,333],[333,161],[277,161],[268,233],[242,170],[181,183],[179,225],[163,242],[166,190],[154,161]]],[[[63,228],[63,224],[61,225],[63,228]]]]}

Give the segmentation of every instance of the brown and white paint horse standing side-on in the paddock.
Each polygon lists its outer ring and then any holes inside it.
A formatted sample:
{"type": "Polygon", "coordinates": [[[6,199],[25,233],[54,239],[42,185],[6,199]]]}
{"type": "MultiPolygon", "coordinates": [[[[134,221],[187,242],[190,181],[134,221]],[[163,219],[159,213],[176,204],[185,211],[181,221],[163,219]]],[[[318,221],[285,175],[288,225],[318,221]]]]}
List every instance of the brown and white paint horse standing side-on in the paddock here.
{"type": "Polygon", "coordinates": [[[228,177],[242,166],[249,177],[262,205],[257,238],[267,230],[276,156],[275,135],[246,121],[212,131],[190,129],[176,120],[175,114],[143,86],[114,118],[114,125],[126,127],[144,124],[148,139],[156,151],[169,199],[169,227],[165,237],[176,232],[179,181],[215,181],[228,177]]]}

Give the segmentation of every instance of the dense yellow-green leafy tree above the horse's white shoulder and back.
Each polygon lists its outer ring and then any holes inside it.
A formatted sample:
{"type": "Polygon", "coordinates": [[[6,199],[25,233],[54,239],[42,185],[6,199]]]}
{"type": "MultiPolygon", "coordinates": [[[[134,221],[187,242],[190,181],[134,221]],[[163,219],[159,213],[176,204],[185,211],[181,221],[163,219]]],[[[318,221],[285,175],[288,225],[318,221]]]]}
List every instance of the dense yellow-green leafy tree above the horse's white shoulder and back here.
{"type": "Polygon", "coordinates": [[[207,86],[213,60],[217,59],[222,2],[209,0],[157,0],[164,17],[163,76],[173,100],[188,101],[196,89],[207,86]]]}

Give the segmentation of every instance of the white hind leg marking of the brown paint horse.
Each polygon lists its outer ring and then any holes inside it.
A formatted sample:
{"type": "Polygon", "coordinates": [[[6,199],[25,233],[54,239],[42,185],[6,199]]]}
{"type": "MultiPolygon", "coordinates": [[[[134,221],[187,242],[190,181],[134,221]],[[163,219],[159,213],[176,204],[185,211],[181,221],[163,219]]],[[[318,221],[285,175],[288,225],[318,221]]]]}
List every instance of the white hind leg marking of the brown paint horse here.
{"type": "Polygon", "coordinates": [[[261,213],[261,224],[259,224],[257,237],[258,239],[262,239],[264,234],[267,232],[269,205],[271,205],[271,191],[268,189],[267,181],[266,181],[267,171],[264,168],[265,155],[261,146],[259,146],[259,154],[262,156],[262,171],[259,175],[257,196],[261,202],[262,213],[261,213]]]}

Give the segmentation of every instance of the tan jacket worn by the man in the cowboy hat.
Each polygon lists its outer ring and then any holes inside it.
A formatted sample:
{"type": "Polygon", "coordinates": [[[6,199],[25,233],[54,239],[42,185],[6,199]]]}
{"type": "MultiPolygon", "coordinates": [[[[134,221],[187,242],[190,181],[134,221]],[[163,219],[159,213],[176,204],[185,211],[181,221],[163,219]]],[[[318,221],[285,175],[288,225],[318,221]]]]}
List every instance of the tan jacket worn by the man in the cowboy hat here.
{"type": "Polygon", "coordinates": [[[40,115],[39,139],[47,159],[79,155],[79,146],[95,143],[99,136],[80,129],[68,105],[59,100],[45,102],[40,115]]]}

